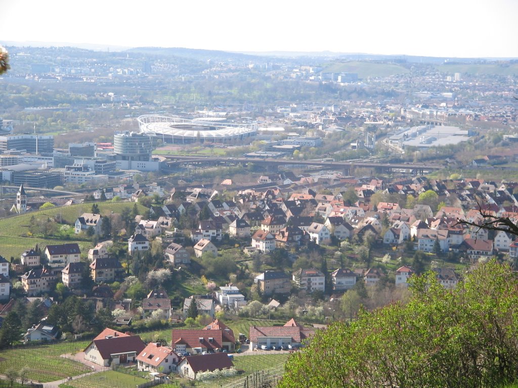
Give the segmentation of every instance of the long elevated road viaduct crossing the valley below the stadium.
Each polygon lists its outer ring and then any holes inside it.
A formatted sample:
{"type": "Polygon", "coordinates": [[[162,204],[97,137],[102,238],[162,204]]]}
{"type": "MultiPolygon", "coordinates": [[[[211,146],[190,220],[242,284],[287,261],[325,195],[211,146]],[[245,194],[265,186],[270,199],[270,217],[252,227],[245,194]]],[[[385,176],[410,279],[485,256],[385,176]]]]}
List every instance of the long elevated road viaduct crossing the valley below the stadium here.
{"type": "Polygon", "coordinates": [[[169,167],[185,165],[188,163],[204,163],[217,165],[220,163],[254,163],[259,166],[317,166],[325,169],[349,170],[355,168],[377,168],[392,171],[394,169],[415,170],[415,171],[434,171],[444,167],[424,163],[383,163],[368,161],[328,161],[328,160],[293,160],[293,159],[274,159],[274,158],[245,158],[235,157],[226,158],[220,156],[177,156],[177,155],[157,155],[166,159],[169,167]]]}

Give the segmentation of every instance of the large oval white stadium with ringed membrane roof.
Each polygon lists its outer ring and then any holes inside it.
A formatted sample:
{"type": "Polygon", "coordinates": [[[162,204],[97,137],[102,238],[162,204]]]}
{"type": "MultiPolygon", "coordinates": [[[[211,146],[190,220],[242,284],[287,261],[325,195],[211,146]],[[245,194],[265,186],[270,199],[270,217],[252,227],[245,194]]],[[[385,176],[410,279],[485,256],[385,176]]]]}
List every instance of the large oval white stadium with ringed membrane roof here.
{"type": "Polygon", "coordinates": [[[225,119],[181,117],[146,114],[137,118],[140,133],[162,139],[164,143],[195,142],[233,143],[257,133],[257,124],[229,124],[225,119]]]}

